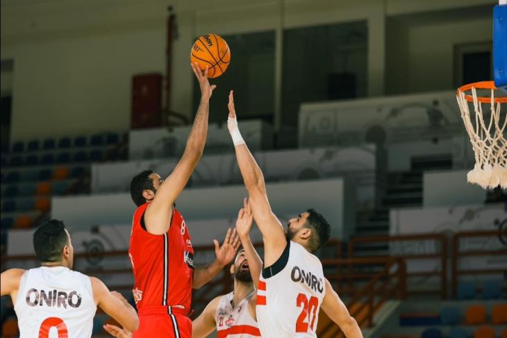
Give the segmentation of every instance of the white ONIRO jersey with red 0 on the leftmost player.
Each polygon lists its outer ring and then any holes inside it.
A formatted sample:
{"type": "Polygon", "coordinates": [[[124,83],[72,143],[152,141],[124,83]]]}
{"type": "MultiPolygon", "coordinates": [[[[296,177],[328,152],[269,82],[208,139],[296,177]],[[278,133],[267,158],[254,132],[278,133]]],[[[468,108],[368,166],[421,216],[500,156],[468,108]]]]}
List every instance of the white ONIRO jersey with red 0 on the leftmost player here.
{"type": "Polygon", "coordinates": [[[90,277],[41,266],[24,273],[14,309],[20,338],[84,338],[92,336],[97,305],[90,277]]]}

